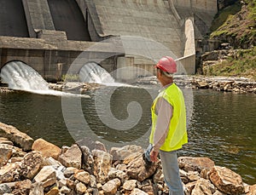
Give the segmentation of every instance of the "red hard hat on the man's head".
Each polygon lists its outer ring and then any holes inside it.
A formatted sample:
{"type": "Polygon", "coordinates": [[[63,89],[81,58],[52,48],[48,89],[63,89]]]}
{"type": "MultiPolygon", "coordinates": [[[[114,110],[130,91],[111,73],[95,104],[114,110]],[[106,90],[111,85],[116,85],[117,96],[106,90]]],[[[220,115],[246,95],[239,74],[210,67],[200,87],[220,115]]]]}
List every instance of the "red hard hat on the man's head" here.
{"type": "Polygon", "coordinates": [[[160,68],[164,72],[177,72],[176,62],[169,56],[162,57],[156,64],[156,67],[160,68]]]}

